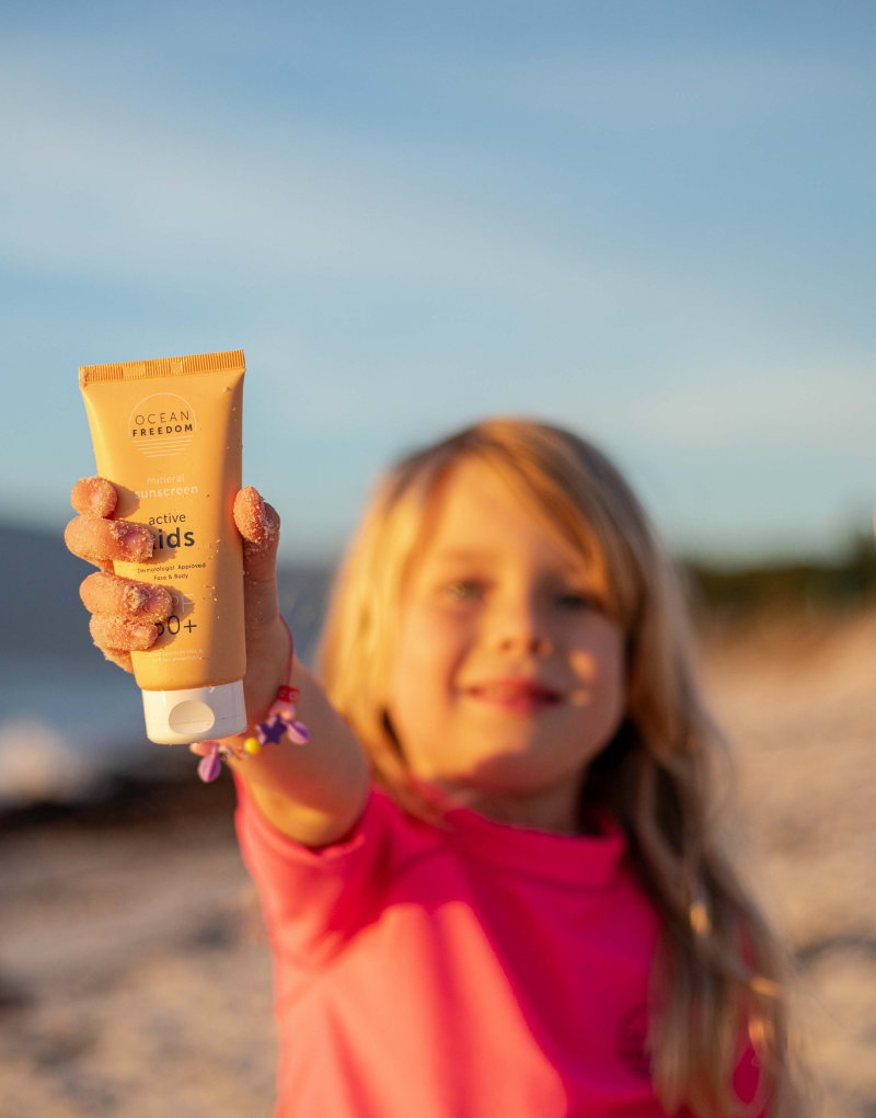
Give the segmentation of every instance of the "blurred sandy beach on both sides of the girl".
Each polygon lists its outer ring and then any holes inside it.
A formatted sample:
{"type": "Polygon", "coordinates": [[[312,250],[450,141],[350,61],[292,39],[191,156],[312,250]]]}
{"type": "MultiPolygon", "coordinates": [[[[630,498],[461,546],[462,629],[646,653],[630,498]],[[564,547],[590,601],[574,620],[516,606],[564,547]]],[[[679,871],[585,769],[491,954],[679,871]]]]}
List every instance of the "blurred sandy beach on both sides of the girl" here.
{"type": "MultiPolygon", "coordinates": [[[[876,614],[713,634],[739,858],[825,1118],[876,1116],[876,614]]],[[[270,970],[227,780],[0,831],[0,1118],[268,1118],[270,970]]]]}

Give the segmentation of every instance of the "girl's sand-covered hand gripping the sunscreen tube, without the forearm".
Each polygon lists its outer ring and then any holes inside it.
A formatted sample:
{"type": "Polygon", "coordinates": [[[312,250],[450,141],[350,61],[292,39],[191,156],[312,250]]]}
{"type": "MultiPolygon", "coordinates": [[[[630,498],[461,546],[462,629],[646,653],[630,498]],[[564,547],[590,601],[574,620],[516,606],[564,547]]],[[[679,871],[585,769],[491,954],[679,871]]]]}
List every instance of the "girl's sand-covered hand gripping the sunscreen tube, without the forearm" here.
{"type": "MultiPolygon", "coordinates": [[[[172,612],[172,598],[164,586],[114,575],[113,560],[149,559],[152,532],[143,524],[110,519],[115,511],[116,492],[103,477],[77,482],[70,501],[79,515],[67,524],[65,542],[74,555],[101,568],[79,587],[83,603],[92,614],[92,637],[107,660],[130,672],[131,653],[152,647],[158,639],[159,623],[172,612]]],[[[244,538],[247,645],[244,692],[251,723],[273,702],[288,665],[288,635],[279,619],[277,600],[279,517],[248,486],[235,499],[235,523],[244,538]]]]}

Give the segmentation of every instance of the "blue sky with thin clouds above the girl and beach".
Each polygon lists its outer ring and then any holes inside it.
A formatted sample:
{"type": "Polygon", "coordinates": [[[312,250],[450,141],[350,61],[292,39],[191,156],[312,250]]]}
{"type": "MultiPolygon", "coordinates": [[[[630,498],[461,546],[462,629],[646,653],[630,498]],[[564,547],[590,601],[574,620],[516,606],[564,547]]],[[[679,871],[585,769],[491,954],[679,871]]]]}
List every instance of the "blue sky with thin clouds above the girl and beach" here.
{"type": "Polygon", "coordinates": [[[60,525],[78,364],[242,348],[287,556],[485,414],[669,543],[829,555],[876,501],[876,6],[40,3],[0,17],[0,517],[60,525]]]}

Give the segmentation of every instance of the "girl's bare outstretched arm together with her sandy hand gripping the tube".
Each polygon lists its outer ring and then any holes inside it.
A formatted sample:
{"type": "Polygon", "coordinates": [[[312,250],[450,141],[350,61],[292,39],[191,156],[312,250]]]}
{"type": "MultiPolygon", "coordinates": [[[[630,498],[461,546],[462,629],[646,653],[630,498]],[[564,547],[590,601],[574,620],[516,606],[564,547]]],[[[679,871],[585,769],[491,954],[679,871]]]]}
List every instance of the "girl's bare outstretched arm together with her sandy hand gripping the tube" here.
{"type": "MultiPolygon", "coordinates": [[[[64,539],[74,555],[99,570],[79,594],[92,613],[94,643],[107,660],[131,671],[131,653],[150,648],[158,623],[171,614],[163,586],[122,578],[113,560],[139,562],[152,555],[153,538],[143,524],[111,520],[116,492],[103,477],[85,477],[70,496],[79,513],[64,539]]],[[[286,682],[289,638],[277,600],[279,517],[256,490],[240,490],[235,523],[244,538],[244,596],[247,674],[244,678],[249,724],[258,722],[286,682]]],[[[345,834],[359,818],[369,789],[369,771],[352,730],[320,684],[297,661],[293,684],[298,716],[311,730],[305,746],[266,745],[245,761],[230,764],[246,780],[266,818],[283,834],[308,846],[323,846],[345,834]]]]}

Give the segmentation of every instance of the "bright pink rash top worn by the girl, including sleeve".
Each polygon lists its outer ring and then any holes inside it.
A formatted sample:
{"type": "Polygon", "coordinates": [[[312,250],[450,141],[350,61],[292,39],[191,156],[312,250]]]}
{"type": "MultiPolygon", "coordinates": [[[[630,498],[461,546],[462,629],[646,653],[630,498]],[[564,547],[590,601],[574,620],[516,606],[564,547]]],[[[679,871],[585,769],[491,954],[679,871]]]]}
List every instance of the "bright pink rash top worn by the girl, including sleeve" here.
{"type": "MultiPolygon", "coordinates": [[[[276,1118],[657,1118],[659,921],[616,827],[564,836],[371,793],[350,839],[279,834],[238,781],[274,956],[276,1118]]],[[[750,1052],[735,1077],[756,1087],[750,1052]]]]}

